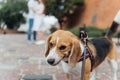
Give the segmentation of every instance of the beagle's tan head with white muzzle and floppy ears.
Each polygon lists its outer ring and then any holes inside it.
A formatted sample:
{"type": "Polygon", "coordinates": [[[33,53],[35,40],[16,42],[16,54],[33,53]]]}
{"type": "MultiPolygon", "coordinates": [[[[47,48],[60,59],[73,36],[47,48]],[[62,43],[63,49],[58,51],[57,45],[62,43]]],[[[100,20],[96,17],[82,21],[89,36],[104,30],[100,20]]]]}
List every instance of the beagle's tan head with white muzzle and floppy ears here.
{"type": "Polygon", "coordinates": [[[58,30],[48,37],[46,60],[50,65],[57,65],[64,58],[74,67],[81,55],[80,41],[69,31],[58,30]]]}

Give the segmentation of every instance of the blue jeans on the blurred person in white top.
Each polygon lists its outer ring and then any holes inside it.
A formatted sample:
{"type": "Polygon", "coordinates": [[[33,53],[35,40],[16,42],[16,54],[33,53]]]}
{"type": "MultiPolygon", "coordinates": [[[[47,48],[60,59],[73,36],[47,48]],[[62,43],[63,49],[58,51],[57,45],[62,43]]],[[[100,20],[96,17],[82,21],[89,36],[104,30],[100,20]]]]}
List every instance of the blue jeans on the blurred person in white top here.
{"type": "MultiPolygon", "coordinates": [[[[28,29],[28,41],[31,41],[32,36],[32,27],[33,27],[34,19],[29,19],[29,29],[28,29]]],[[[36,41],[37,33],[36,31],[33,31],[33,40],[36,41]]]]}

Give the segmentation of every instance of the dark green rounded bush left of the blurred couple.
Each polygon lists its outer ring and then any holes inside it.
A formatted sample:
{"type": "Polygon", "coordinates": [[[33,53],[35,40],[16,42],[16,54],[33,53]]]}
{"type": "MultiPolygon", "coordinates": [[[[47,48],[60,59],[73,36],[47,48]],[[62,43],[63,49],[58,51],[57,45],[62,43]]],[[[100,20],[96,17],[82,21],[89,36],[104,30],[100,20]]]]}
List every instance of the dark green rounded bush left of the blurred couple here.
{"type": "Polygon", "coordinates": [[[7,25],[8,29],[17,29],[26,20],[23,12],[27,12],[27,1],[8,0],[0,9],[0,21],[7,25]]]}

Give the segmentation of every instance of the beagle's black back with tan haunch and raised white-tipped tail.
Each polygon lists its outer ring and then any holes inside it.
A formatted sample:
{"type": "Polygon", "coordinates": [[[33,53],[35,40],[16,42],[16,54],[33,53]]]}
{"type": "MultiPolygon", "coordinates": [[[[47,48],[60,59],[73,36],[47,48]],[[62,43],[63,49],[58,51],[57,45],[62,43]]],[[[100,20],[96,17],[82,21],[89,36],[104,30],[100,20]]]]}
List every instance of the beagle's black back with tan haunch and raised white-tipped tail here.
{"type": "Polygon", "coordinates": [[[104,37],[94,38],[90,40],[96,49],[96,57],[94,67],[97,67],[104,59],[108,56],[111,59],[117,59],[116,54],[116,45],[114,41],[112,41],[113,34],[117,31],[117,28],[120,24],[120,11],[115,16],[109,31],[106,33],[104,37]],[[116,57],[115,57],[116,56],[116,57]]]}

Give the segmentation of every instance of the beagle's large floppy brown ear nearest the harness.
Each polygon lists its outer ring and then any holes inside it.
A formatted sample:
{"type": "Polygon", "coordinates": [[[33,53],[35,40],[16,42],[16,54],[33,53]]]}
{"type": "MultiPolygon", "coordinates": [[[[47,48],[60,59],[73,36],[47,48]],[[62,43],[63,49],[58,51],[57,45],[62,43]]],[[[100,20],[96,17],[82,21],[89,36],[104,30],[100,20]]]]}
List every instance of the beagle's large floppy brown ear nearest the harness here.
{"type": "Polygon", "coordinates": [[[76,63],[80,59],[80,43],[79,40],[74,39],[73,40],[73,45],[72,45],[72,50],[69,56],[69,64],[71,67],[75,67],[76,63]]]}

